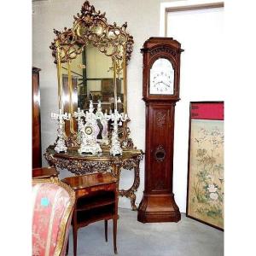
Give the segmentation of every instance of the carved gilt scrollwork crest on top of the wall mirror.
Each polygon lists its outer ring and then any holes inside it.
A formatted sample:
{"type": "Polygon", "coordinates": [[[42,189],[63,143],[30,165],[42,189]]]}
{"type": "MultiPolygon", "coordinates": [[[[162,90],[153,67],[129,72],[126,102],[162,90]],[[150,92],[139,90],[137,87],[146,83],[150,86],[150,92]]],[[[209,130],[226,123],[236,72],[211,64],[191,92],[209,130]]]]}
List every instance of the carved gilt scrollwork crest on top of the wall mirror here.
{"type": "Polygon", "coordinates": [[[96,11],[89,1],[85,1],[81,14],[73,16],[73,28],[64,27],[63,32],[54,30],[56,38],[51,43],[52,55],[57,63],[57,48],[60,50],[62,63],[73,60],[81,54],[87,44],[93,44],[103,54],[113,56],[122,66],[123,50],[125,49],[126,65],[131,59],[133,37],[126,32],[127,22],[122,26],[108,24],[105,13],[96,11]]]}

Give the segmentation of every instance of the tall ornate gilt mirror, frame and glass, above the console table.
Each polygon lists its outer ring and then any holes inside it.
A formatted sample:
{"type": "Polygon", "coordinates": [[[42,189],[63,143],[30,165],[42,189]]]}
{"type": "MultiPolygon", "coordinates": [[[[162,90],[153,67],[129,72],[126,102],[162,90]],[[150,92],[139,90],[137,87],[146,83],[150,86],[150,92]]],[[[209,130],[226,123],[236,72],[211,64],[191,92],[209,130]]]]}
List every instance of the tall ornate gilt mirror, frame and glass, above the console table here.
{"type": "MultiPolygon", "coordinates": [[[[127,113],[126,67],[134,41],[126,27],[126,22],[108,24],[105,13],[86,1],[72,28],[54,30],[50,49],[57,66],[59,109],[73,115],[80,108],[85,113],[90,101],[95,109],[101,101],[103,113],[115,109],[127,113]]],[[[119,138],[123,146],[132,148],[128,121],[120,127],[119,138]]],[[[78,146],[77,134],[77,121],[71,118],[65,126],[67,146],[78,146]]]]}

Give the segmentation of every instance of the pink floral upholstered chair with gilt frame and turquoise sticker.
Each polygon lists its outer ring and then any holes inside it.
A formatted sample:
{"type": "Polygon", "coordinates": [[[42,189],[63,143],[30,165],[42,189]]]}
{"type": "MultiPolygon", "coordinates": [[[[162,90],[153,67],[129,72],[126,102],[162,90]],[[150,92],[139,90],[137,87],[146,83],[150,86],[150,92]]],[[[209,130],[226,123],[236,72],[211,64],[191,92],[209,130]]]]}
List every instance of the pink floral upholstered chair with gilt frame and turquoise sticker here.
{"type": "Polygon", "coordinates": [[[32,180],[32,255],[65,255],[75,194],[55,178],[32,180]]]}

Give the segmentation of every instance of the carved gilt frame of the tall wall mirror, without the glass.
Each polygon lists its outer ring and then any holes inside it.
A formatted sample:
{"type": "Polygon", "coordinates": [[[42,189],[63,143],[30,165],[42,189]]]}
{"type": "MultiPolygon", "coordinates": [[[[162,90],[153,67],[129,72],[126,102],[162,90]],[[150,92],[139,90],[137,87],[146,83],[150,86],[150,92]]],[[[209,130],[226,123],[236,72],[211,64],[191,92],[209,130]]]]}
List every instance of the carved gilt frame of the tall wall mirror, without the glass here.
{"type": "MultiPolygon", "coordinates": [[[[88,44],[92,44],[104,55],[110,56],[113,61],[113,87],[114,87],[114,106],[117,106],[117,85],[116,74],[123,73],[124,84],[124,113],[127,113],[127,77],[126,67],[131,60],[131,53],[133,50],[133,37],[126,32],[127,22],[122,26],[117,26],[114,22],[113,25],[108,24],[108,20],[105,17],[105,13],[96,11],[93,5],[90,5],[89,1],[85,1],[80,14],[73,16],[73,27],[64,27],[64,31],[59,32],[54,29],[56,38],[54,42],[49,46],[52,49],[52,55],[55,58],[55,64],[57,65],[57,77],[58,77],[58,102],[59,109],[64,112],[64,105],[62,93],[63,84],[61,76],[61,65],[67,63],[67,83],[69,100],[67,101],[68,112],[72,113],[76,111],[73,107],[73,83],[70,75],[70,62],[82,53],[84,47],[88,44]]],[[[66,111],[66,110],[65,110],[66,111]]],[[[130,130],[127,126],[129,119],[124,122],[121,127],[120,141],[123,147],[133,148],[133,143],[129,137],[130,130]]],[[[77,127],[76,120],[71,119],[67,121],[65,128],[65,140],[68,147],[79,146],[77,140],[77,127]]]]}

